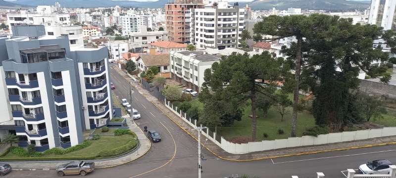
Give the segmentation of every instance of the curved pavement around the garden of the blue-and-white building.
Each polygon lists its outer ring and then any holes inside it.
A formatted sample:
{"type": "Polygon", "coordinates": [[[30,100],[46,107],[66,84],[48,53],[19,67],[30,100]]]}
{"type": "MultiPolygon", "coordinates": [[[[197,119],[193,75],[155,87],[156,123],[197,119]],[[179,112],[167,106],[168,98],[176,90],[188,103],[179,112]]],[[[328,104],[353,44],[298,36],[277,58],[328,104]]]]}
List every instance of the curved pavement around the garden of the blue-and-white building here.
{"type": "MultiPolygon", "coordinates": [[[[138,127],[138,125],[132,123],[130,118],[127,118],[127,124],[129,126],[129,129],[138,136],[140,142],[138,149],[135,149],[131,153],[121,155],[116,158],[84,161],[95,162],[95,167],[97,169],[101,169],[126,164],[145,155],[151,147],[151,142],[148,140],[143,131],[138,127]]],[[[71,161],[9,161],[7,163],[11,165],[13,170],[53,170],[57,166],[68,162],[71,161]]]]}

